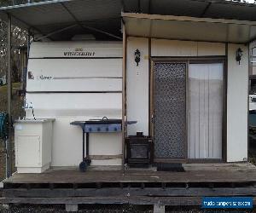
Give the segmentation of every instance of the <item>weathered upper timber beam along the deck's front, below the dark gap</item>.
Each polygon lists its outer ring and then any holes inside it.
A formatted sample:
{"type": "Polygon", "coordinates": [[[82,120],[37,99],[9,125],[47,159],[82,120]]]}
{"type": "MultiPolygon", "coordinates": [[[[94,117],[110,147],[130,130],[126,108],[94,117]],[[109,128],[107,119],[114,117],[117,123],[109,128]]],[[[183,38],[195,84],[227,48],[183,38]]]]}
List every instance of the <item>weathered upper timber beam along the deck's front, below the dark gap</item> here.
{"type": "Polygon", "coordinates": [[[255,187],[166,187],[165,189],[159,187],[148,188],[56,188],[46,189],[37,188],[26,190],[19,189],[5,189],[3,191],[4,198],[72,198],[72,197],[101,197],[101,196],[123,196],[124,194],[130,196],[149,196],[149,197],[203,197],[203,196],[253,196],[256,195],[255,187]]]}

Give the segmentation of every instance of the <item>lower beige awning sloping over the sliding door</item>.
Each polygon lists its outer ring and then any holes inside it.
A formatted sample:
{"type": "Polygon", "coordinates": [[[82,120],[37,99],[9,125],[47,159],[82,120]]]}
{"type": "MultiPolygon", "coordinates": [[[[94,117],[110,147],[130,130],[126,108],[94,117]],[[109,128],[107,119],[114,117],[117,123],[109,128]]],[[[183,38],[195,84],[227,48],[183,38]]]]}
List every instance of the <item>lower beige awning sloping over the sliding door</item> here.
{"type": "Polygon", "coordinates": [[[129,36],[224,43],[249,43],[256,38],[256,21],[134,13],[122,17],[129,36]]]}

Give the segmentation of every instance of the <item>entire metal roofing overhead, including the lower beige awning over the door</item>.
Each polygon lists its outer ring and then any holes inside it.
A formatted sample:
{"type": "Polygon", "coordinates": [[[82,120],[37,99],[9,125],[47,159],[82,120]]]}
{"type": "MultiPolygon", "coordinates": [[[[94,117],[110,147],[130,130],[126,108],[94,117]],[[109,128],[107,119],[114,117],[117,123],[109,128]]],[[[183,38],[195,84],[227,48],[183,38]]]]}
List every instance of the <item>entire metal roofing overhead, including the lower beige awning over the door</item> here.
{"type": "Polygon", "coordinates": [[[138,36],[247,43],[256,33],[256,4],[224,0],[52,0],[0,8],[0,18],[52,40],[111,40],[121,38],[121,11],[137,14],[124,19],[138,36]]]}

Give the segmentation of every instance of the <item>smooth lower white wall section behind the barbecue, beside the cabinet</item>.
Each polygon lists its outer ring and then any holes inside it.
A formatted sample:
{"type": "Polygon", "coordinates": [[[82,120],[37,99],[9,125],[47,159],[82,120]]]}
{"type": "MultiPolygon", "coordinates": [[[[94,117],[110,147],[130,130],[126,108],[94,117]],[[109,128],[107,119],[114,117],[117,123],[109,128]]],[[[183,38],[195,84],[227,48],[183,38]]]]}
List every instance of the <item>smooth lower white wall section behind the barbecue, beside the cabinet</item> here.
{"type": "MultiPolygon", "coordinates": [[[[82,129],[79,126],[73,126],[70,122],[74,120],[84,120],[79,117],[60,117],[55,119],[53,126],[53,147],[52,147],[52,166],[79,166],[82,161],[82,129]]],[[[121,154],[122,137],[120,133],[99,133],[90,134],[90,155],[121,154]],[[100,150],[102,152],[99,151],[100,150]]],[[[86,149],[85,149],[86,152],[86,149]]],[[[120,165],[118,160],[101,161],[94,160],[94,165],[120,165]],[[111,163],[111,164],[110,164],[111,163]]]]}

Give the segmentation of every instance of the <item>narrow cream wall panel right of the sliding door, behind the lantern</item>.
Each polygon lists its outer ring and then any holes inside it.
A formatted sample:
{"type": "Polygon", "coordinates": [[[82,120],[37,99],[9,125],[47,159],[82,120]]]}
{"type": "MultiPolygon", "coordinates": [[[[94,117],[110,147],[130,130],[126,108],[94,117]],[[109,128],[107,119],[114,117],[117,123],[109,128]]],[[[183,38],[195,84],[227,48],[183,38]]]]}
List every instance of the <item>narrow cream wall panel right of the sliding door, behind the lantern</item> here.
{"type": "Polygon", "coordinates": [[[242,161],[247,158],[248,101],[248,51],[242,44],[229,43],[227,95],[227,160],[242,161]],[[243,51],[241,65],[236,62],[238,48],[243,51]]]}

